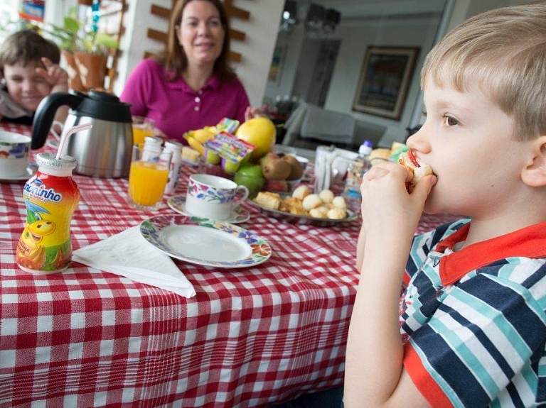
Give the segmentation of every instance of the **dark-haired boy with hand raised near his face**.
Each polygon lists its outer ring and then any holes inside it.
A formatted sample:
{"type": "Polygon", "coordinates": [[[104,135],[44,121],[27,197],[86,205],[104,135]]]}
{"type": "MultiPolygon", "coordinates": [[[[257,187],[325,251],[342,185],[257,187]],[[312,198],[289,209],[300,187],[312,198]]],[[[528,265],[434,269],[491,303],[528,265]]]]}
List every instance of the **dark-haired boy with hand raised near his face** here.
{"type": "MultiPolygon", "coordinates": [[[[33,30],[9,35],[0,45],[0,118],[31,125],[38,104],[53,92],[68,91],[68,74],[58,64],[60,50],[33,30]]],[[[55,120],[64,123],[66,106],[55,120]]]]}

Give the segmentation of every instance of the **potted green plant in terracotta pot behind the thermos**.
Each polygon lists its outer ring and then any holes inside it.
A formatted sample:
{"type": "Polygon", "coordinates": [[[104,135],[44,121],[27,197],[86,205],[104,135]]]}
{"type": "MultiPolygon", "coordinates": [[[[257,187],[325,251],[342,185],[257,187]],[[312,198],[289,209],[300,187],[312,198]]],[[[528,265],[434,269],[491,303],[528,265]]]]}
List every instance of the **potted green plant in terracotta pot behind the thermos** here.
{"type": "Polygon", "coordinates": [[[63,26],[52,23],[28,23],[57,43],[68,65],[70,87],[79,91],[103,88],[110,50],[119,47],[117,40],[79,21],[75,8],[63,18],[63,26]]]}

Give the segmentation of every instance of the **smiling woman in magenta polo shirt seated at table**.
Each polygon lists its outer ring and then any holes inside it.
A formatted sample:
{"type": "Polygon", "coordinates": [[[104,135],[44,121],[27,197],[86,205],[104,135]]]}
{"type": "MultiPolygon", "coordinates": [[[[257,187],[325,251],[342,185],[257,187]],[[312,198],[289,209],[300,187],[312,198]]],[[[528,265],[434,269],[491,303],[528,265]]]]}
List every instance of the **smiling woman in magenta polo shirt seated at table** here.
{"type": "MultiPolygon", "coordinates": [[[[163,52],[139,62],[120,99],[131,113],[156,121],[168,138],[214,126],[224,117],[254,116],[230,67],[230,26],[220,0],[178,0],[163,52]]],[[[186,143],[187,144],[187,143],[186,143]]]]}

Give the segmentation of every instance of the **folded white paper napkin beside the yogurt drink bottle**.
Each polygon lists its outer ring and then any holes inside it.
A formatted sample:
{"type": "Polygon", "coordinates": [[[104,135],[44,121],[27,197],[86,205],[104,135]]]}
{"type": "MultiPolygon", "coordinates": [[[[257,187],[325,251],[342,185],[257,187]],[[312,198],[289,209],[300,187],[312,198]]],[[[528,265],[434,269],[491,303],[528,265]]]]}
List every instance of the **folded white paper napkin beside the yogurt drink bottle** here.
{"type": "Polygon", "coordinates": [[[75,250],[72,260],[136,282],[161,287],[183,297],[196,294],[193,285],[173,260],[140,235],[139,226],[75,250]]]}

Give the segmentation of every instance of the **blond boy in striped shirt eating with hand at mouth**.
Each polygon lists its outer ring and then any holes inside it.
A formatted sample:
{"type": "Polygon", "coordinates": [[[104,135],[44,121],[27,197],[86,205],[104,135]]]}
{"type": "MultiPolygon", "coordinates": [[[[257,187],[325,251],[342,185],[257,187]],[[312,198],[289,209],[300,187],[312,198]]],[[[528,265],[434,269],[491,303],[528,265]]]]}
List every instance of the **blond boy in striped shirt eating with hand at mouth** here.
{"type": "Polygon", "coordinates": [[[546,3],[495,9],[427,56],[427,119],[361,186],[346,407],[546,403],[546,3]],[[422,212],[469,219],[414,236],[422,212]],[[403,287],[402,297],[400,289],[403,287]]]}

